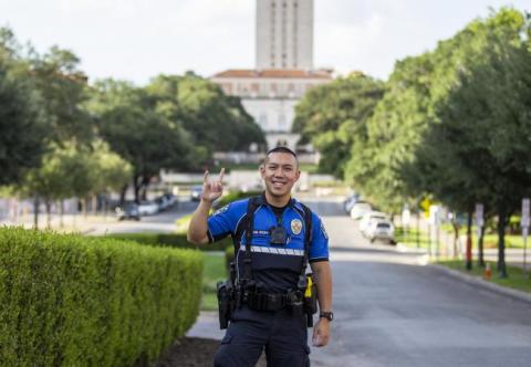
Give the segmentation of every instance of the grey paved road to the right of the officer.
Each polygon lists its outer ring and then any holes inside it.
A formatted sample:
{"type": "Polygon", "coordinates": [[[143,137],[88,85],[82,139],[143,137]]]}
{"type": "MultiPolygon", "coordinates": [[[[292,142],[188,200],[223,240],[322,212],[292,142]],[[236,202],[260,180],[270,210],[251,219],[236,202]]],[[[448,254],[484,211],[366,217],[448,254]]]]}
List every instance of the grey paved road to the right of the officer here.
{"type": "Polygon", "coordinates": [[[531,366],[531,305],[475,289],[423,255],[372,245],[336,202],[323,214],[334,274],[333,339],[313,366],[531,366]]]}

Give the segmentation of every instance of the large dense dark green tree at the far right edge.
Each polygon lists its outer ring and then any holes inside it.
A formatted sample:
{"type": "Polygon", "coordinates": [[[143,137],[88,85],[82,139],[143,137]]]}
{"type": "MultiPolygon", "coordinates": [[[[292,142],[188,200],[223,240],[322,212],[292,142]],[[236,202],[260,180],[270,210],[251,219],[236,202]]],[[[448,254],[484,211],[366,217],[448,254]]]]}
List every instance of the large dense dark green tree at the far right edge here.
{"type": "Polygon", "coordinates": [[[461,62],[414,167],[425,177],[423,186],[447,203],[479,201],[496,212],[501,276],[506,227],[531,193],[531,52],[523,36],[529,30],[529,20],[511,9],[473,24],[481,56],[461,62]]]}

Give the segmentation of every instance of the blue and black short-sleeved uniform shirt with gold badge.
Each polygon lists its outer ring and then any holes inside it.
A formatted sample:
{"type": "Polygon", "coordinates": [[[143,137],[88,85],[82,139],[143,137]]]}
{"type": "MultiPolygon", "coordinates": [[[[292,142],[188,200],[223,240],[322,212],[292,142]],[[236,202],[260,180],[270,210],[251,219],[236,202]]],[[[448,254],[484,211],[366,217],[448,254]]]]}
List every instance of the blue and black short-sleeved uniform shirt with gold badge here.
{"type": "MultiPolygon", "coordinates": [[[[243,255],[246,252],[246,231],[241,239],[236,239],[238,223],[247,213],[249,199],[238,200],[217,210],[208,218],[208,239],[218,241],[231,235],[238,249],[236,263],[238,275],[243,274],[243,255]]],[[[271,207],[261,196],[254,212],[251,243],[252,276],[261,282],[267,292],[283,293],[296,287],[296,281],[302,270],[304,255],[304,211],[296,200],[291,199],[282,214],[282,226],[288,232],[285,245],[270,244],[269,230],[277,226],[277,217],[271,207]]],[[[329,238],[321,219],[312,212],[312,243],[309,262],[329,260],[329,238]]]]}

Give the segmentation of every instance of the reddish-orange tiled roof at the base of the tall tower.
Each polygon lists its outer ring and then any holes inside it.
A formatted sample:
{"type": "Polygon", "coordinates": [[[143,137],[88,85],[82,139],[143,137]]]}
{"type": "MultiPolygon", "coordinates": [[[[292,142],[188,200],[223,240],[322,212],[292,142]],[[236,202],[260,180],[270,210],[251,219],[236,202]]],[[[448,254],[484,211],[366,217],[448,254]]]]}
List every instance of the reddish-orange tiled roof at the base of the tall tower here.
{"type": "Polygon", "coordinates": [[[298,70],[298,69],[229,69],[217,73],[212,77],[263,77],[263,78],[332,78],[332,71],[329,70],[298,70]]]}

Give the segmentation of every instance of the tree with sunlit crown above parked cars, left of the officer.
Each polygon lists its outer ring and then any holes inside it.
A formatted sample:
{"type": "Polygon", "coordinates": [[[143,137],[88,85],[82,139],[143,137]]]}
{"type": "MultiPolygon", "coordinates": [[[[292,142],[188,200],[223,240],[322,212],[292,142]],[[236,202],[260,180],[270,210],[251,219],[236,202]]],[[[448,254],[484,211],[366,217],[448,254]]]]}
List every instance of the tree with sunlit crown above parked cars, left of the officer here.
{"type": "Polygon", "coordinates": [[[87,108],[97,120],[102,138],[133,165],[135,200],[145,197],[149,182],[162,168],[188,167],[194,153],[189,134],[158,113],[144,88],[101,81],[93,87],[87,108]]]}

